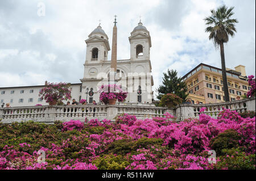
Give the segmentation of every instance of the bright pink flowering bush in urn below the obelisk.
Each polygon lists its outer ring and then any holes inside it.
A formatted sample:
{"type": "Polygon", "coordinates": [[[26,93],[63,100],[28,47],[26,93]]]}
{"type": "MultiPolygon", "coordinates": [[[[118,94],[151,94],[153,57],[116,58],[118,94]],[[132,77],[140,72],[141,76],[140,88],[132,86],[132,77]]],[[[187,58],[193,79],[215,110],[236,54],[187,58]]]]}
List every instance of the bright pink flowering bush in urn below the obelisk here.
{"type": "Polygon", "coordinates": [[[98,92],[100,92],[100,100],[104,104],[108,104],[110,99],[117,99],[118,102],[123,102],[128,94],[127,92],[123,92],[118,85],[102,85],[98,92]]]}

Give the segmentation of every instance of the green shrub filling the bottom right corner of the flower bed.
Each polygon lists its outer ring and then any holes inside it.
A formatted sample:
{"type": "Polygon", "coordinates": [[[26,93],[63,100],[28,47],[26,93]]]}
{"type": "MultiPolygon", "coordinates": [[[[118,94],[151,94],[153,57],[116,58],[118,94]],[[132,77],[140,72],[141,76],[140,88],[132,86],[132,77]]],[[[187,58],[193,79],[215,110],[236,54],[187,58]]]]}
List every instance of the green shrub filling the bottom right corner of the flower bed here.
{"type": "Polygon", "coordinates": [[[216,169],[255,170],[255,154],[246,155],[239,148],[224,149],[216,169]]]}

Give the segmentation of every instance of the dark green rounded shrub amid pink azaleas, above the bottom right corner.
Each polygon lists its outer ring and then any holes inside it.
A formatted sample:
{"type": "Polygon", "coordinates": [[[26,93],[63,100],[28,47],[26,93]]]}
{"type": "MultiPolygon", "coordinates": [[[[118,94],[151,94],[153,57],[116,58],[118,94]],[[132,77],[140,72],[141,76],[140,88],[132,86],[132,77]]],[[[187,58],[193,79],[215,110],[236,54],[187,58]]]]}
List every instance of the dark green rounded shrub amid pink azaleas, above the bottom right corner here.
{"type": "Polygon", "coordinates": [[[228,129],[210,140],[210,148],[215,150],[217,155],[223,155],[223,149],[237,148],[239,140],[241,136],[234,129],[228,129]]]}

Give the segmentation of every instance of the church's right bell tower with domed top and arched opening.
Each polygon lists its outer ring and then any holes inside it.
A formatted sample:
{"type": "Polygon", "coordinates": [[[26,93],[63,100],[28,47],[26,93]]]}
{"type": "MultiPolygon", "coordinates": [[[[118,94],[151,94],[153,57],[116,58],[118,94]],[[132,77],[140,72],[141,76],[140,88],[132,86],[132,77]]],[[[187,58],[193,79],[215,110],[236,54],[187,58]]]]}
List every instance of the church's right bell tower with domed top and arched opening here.
{"type": "Polygon", "coordinates": [[[150,60],[151,37],[150,32],[140,22],[129,37],[131,45],[131,61],[150,60]]]}

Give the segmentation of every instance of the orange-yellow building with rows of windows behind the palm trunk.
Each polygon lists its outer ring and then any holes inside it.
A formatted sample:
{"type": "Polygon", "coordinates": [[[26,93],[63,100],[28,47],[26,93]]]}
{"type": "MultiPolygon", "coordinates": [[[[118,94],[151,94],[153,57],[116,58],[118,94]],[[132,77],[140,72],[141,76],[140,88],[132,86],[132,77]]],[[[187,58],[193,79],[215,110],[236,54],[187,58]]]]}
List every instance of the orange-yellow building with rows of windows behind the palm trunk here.
{"type": "MultiPolygon", "coordinates": [[[[246,77],[245,66],[238,65],[235,70],[226,69],[229,97],[231,101],[242,99],[251,89],[246,77]]],[[[199,64],[182,78],[187,83],[192,103],[221,103],[224,101],[222,71],[214,66],[199,64]]]]}

